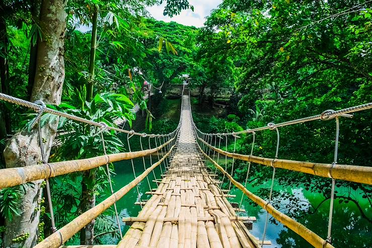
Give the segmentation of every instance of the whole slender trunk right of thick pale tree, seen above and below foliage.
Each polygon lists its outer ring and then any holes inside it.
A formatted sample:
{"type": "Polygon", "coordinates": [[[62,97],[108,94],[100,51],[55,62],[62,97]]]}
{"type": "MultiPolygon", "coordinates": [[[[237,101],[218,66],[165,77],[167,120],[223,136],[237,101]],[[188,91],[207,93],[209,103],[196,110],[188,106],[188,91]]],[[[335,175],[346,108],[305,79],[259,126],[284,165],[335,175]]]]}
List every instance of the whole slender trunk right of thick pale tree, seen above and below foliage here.
{"type": "MultiPolygon", "coordinates": [[[[89,81],[87,87],[87,101],[93,99],[94,88],[94,68],[96,60],[97,48],[97,26],[98,26],[98,7],[94,5],[94,12],[92,16],[92,39],[91,39],[91,54],[89,58],[89,81]]],[[[96,205],[95,192],[95,170],[90,170],[83,173],[82,181],[82,212],[86,212],[96,205]]],[[[80,231],[80,244],[93,244],[94,237],[94,220],[92,220],[86,227],[80,231]]]]}

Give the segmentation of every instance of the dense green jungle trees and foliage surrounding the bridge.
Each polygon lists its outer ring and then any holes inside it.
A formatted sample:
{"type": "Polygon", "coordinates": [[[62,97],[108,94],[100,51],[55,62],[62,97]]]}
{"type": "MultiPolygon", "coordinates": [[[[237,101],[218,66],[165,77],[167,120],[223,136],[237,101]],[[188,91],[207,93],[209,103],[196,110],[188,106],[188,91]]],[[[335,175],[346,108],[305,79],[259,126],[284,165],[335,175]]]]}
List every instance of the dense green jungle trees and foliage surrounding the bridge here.
{"type": "MultiPolygon", "coordinates": [[[[186,0],[164,2],[169,16],[197,8],[186,0]]],[[[155,20],[146,11],[155,4],[2,1],[1,93],[42,100],[50,108],[110,126],[125,119],[128,130],[161,134],[178,125],[178,85],[186,80],[194,121],[207,133],[252,129],[372,100],[371,0],[224,0],[202,28],[155,20]],[[144,90],[148,84],[151,99],[144,90]]],[[[39,163],[37,128],[31,128],[37,113],[6,102],[0,106],[0,169],[39,163]]],[[[41,117],[40,125],[50,162],[102,154],[100,136],[94,135],[98,129],[50,114],[41,117]]],[[[370,111],[340,118],[338,163],[370,166],[371,126],[370,111]]],[[[126,137],[104,136],[107,153],[128,151],[126,137]]],[[[334,137],[334,121],[281,128],[279,157],[331,163],[334,137]]],[[[259,132],[255,138],[253,154],[274,157],[276,133],[259,132]]],[[[132,150],[138,149],[139,141],[133,142],[132,150]]],[[[249,154],[251,142],[252,135],[242,135],[235,152],[249,154]]],[[[234,140],[228,140],[227,149],[234,150],[234,140]]],[[[247,162],[235,162],[233,176],[244,182],[247,162]]],[[[228,169],[231,165],[228,161],[228,169]]],[[[260,197],[269,194],[263,182],[270,181],[271,173],[271,168],[251,168],[249,182],[260,197]]],[[[328,179],[278,170],[276,180],[281,187],[317,194],[314,203],[290,190],[273,192],[272,204],[303,224],[329,206],[328,179]]],[[[53,178],[50,184],[59,227],[111,194],[102,168],[53,178]]],[[[45,196],[43,180],[0,190],[0,246],[32,247],[50,235],[45,196]]],[[[372,247],[372,188],[337,181],[335,199],[346,224],[334,228],[334,245],[372,247]]],[[[317,221],[315,231],[326,236],[328,213],[317,221]]],[[[69,242],[104,243],[118,238],[115,228],[111,209],[69,242]]],[[[281,247],[310,246],[287,229],[278,235],[281,247]]]]}

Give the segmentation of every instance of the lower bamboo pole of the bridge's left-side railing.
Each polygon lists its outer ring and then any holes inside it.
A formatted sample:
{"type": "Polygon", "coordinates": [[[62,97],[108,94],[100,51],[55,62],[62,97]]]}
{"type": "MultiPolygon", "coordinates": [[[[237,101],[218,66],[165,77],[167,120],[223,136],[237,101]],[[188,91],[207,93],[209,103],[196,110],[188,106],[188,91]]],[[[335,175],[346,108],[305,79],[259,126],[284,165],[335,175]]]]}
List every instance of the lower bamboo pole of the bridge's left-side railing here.
{"type": "Polygon", "coordinates": [[[75,233],[80,231],[84,226],[90,223],[103,211],[112,206],[117,200],[122,198],[129,190],[133,189],[139,182],[141,182],[150,172],[152,172],[159,164],[171,153],[175,145],[171,147],[167,154],[165,154],[158,162],[154,163],[151,167],[147,168],[141,175],[136,177],[129,184],[125,185],[123,188],[115,192],[113,195],[108,197],[106,200],[96,205],[95,207],[89,209],[88,211],[82,213],[71,222],[60,228],[58,231],[54,232],[43,241],[38,243],[35,248],[49,248],[49,247],[59,247],[62,243],[66,242],[75,233]]]}

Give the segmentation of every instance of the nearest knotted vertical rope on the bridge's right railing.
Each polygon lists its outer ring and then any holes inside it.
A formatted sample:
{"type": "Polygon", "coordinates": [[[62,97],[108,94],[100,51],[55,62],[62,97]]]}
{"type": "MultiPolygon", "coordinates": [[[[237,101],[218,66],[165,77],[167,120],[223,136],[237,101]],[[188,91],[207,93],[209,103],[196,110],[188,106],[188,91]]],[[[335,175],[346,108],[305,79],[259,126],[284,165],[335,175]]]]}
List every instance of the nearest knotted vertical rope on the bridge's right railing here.
{"type": "MultiPolygon", "coordinates": [[[[321,114],[321,120],[328,120],[327,118],[324,118],[325,114],[333,114],[334,110],[326,110],[321,114]]],[[[344,117],[350,117],[350,115],[341,115],[344,117]]],[[[352,116],[351,116],[352,117],[352,116]]],[[[338,157],[338,139],[340,136],[340,121],[339,117],[335,116],[336,120],[336,135],[335,135],[335,149],[333,153],[333,162],[332,166],[329,170],[329,176],[332,178],[332,185],[331,185],[331,201],[329,206],[329,217],[328,217],[328,231],[327,231],[327,239],[324,241],[323,246],[328,243],[332,243],[332,218],[333,218],[333,204],[335,199],[335,186],[336,186],[336,180],[332,177],[332,168],[337,164],[337,157],[338,157]]]]}

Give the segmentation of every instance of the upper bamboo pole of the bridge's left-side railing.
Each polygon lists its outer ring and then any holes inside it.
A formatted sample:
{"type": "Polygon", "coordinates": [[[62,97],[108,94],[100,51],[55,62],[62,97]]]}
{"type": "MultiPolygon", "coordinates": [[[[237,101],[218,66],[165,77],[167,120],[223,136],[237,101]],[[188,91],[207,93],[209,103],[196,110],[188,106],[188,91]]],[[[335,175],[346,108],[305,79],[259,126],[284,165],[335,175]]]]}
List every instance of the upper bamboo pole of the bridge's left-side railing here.
{"type": "Polygon", "coordinates": [[[176,137],[173,137],[166,143],[153,149],[147,149],[142,151],[121,152],[85,159],[35,164],[34,166],[27,167],[1,169],[0,189],[25,184],[27,182],[35,180],[52,178],[68,173],[87,171],[93,168],[103,166],[104,164],[110,162],[146,156],[165,147],[175,138],[176,137]]]}

